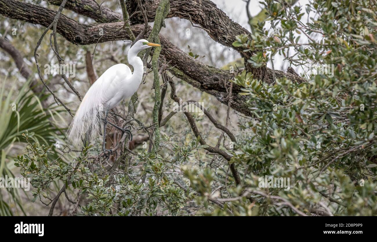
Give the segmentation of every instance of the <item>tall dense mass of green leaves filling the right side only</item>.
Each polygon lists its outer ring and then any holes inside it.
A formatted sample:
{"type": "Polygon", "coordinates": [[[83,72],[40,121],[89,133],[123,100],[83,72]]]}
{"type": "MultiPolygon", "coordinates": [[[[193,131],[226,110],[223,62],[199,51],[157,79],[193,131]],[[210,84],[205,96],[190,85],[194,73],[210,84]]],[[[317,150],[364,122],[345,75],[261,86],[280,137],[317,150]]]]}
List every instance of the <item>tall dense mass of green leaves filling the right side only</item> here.
{"type": "MultiPolygon", "coordinates": [[[[276,79],[270,86],[246,73],[236,77],[250,97],[254,119],[244,125],[253,132],[239,144],[233,160],[250,172],[245,177],[249,189],[257,189],[255,177],[262,174],[290,177],[288,192],[273,189],[268,194],[305,213],[320,209],[334,215],[375,215],[375,6],[368,1],[315,1],[306,11],[316,17],[303,24],[299,7],[271,3],[266,4],[274,16],[271,25],[280,23],[280,28],[268,35],[259,25],[252,41],[238,36],[234,45],[257,50],[250,60],[256,66],[280,52],[308,71],[308,80],[276,79]],[[300,41],[295,32],[306,33],[307,39],[300,41]],[[294,46],[294,55],[287,46],[294,46]]],[[[293,212],[254,199],[261,214],[293,212]]]]}

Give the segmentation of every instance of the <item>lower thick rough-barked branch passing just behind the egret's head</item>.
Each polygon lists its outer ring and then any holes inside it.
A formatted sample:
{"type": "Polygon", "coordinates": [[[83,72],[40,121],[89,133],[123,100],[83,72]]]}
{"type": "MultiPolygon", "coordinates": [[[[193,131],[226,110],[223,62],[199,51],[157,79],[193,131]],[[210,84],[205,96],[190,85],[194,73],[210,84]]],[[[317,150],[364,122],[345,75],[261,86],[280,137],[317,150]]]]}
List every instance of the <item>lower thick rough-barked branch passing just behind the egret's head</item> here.
{"type": "MultiPolygon", "coordinates": [[[[6,17],[22,20],[29,23],[49,26],[56,15],[56,11],[36,6],[29,3],[21,3],[12,0],[0,0],[0,14],[6,17]]],[[[104,13],[103,13],[104,14],[104,13]]],[[[143,25],[131,26],[134,34],[144,30],[143,25]]],[[[85,25],[77,23],[75,20],[61,14],[57,32],[69,42],[78,45],[89,45],[113,40],[130,39],[127,31],[123,28],[122,22],[101,23],[95,25],[85,25]],[[103,33],[103,35],[101,35],[103,33]]],[[[164,55],[170,65],[177,68],[170,69],[175,76],[215,96],[220,102],[227,104],[227,93],[224,88],[225,80],[233,78],[233,75],[225,70],[220,70],[212,66],[204,65],[198,60],[185,54],[177,46],[173,45],[164,36],[159,35],[163,46],[161,54],[164,55]]],[[[239,92],[240,87],[235,86],[234,92],[239,92]]],[[[232,108],[250,115],[245,97],[236,94],[232,102],[232,108]]]]}

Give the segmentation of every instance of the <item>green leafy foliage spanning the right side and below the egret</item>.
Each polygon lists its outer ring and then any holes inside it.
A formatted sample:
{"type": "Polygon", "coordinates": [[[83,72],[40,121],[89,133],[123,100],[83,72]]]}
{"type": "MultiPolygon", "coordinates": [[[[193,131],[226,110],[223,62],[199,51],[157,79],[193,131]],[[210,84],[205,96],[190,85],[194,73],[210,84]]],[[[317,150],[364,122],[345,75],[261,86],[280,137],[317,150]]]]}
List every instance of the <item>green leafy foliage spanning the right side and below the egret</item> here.
{"type": "Polygon", "coordinates": [[[231,154],[229,161],[206,152],[199,137],[187,135],[189,127],[181,127],[180,137],[167,125],[161,150],[123,153],[118,170],[89,159],[100,143],[63,153],[66,163],[49,158],[52,146],[34,142],[29,132],[15,165],[32,179],[32,201],[54,203],[49,189],[60,181],[64,192],[84,198],[78,215],[376,215],[377,6],[263,4],[268,18],[250,19],[252,35],[235,36],[233,45],[255,52],[247,61],[256,68],[283,55],[304,70],[304,81],[274,76],[268,84],[237,72],[230,81],[242,87],[253,115],[240,122],[236,143],[220,137],[217,147],[231,154]],[[285,179],[288,187],[266,187],[265,176],[285,179]]]}

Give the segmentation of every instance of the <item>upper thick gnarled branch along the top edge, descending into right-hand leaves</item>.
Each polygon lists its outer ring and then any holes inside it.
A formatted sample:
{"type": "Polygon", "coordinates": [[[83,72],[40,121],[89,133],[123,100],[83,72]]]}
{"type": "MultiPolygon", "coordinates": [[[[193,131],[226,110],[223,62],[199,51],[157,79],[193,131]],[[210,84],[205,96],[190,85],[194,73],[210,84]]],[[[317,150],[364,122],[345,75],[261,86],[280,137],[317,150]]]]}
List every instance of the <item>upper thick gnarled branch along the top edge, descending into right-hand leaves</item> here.
{"type": "MultiPolygon", "coordinates": [[[[47,0],[54,5],[60,5],[61,0],[47,0]]],[[[144,9],[146,11],[146,17],[149,22],[153,22],[155,18],[155,11],[158,7],[159,0],[141,0],[144,9]]],[[[127,9],[130,13],[138,11],[137,3],[133,0],[126,0],[127,9]]],[[[118,22],[123,18],[121,14],[113,12],[111,9],[101,6],[99,9],[98,4],[93,0],[70,0],[66,4],[66,8],[77,12],[78,14],[85,15],[93,18],[100,23],[118,22]]],[[[273,83],[273,70],[266,68],[252,68],[247,63],[247,59],[253,54],[253,52],[244,52],[242,48],[236,48],[232,44],[235,40],[235,36],[239,34],[248,34],[250,32],[243,28],[236,22],[233,22],[221,9],[217,8],[215,3],[210,0],[201,1],[186,1],[175,0],[170,4],[170,12],[166,18],[179,17],[192,21],[200,25],[203,29],[207,29],[208,35],[218,43],[227,47],[233,48],[238,51],[245,60],[245,66],[247,70],[254,74],[257,79],[264,80],[267,83],[273,83]]],[[[143,15],[132,14],[130,17],[132,25],[144,23],[143,15]]],[[[287,79],[295,82],[302,82],[303,79],[294,75],[284,73],[282,71],[275,71],[276,77],[286,77],[287,79]]]]}

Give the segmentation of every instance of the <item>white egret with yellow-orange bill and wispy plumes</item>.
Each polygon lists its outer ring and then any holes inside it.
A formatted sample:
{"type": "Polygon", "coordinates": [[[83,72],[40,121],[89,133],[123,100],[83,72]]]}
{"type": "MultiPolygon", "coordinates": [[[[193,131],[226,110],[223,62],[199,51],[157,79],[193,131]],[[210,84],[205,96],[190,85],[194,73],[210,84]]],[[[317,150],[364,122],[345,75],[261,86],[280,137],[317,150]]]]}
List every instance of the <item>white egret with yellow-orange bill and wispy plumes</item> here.
{"type": "Polygon", "coordinates": [[[143,61],[137,56],[138,53],[152,46],[160,45],[149,43],[144,39],[138,40],[129,49],[127,55],[129,64],[133,66],[132,73],[125,64],[113,65],[89,88],[68,129],[67,139],[73,145],[78,145],[84,138],[88,142],[93,141],[100,134],[103,123],[105,138],[109,110],[118,105],[121,100],[130,98],[143,78],[143,61]]]}

